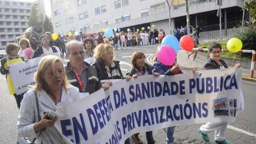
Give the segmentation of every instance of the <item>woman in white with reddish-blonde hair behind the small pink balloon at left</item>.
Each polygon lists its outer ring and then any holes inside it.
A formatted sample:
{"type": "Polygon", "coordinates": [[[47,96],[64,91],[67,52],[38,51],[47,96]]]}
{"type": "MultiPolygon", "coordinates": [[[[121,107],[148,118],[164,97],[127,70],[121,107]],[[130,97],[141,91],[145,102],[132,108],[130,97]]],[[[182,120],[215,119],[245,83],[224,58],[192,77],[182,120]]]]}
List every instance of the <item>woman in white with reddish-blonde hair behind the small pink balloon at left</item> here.
{"type": "Polygon", "coordinates": [[[34,50],[32,49],[32,55],[30,57],[27,57],[26,54],[24,53],[26,48],[31,48],[29,39],[27,38],[22,38],[21,40],[19,40],[19,52],[18,55],[23,57],[24,59],[31,59],[34,55],[34,50]]]}

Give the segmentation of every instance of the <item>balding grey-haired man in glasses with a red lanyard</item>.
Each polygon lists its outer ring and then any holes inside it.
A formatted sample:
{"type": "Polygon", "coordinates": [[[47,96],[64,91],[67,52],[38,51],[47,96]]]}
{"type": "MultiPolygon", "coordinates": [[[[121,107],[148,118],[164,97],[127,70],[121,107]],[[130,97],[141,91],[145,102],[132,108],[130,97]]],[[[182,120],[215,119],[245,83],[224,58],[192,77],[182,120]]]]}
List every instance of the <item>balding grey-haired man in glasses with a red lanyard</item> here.
{"type": "Polygon", "coordinates": [[[94,93],[103,88],[104,90],[112,86],[111,82],[100,84],[95,67],[83,61],[83,45],[77,40],[71,40],[66,45],[69,62],[66,66],[67,78],[71,85],[79,88],[81,93],[94,93]]]}

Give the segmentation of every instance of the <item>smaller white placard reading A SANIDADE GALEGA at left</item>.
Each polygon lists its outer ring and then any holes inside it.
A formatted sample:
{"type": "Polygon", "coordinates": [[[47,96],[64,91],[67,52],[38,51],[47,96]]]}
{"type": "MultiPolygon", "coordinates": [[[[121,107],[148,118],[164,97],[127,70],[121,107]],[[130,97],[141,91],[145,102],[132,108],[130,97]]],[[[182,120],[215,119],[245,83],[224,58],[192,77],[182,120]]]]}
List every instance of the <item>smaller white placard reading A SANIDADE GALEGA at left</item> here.
{"type": "Polygon", "coordinates": [[[28,91],[29,85],[35,85],[34,74],[37,71],[40,59],[41,57],[38,57],[27,62],[10,65],[9,72],[17,95],[28,91]]]}

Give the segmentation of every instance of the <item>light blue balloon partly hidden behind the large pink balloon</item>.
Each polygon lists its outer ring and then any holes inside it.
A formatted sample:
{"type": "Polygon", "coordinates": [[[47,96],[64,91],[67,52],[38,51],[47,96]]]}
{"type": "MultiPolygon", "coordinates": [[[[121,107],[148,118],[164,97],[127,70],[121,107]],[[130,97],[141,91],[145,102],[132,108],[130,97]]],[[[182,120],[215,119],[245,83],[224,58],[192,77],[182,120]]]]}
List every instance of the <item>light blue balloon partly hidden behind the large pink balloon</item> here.
{"type": "Polygon", "coordinates": [[[163,38],[161,45],[169,45],[174,49],[176,54],[178,53],[179,41],[174,35],[166,35],[163,38]]]}

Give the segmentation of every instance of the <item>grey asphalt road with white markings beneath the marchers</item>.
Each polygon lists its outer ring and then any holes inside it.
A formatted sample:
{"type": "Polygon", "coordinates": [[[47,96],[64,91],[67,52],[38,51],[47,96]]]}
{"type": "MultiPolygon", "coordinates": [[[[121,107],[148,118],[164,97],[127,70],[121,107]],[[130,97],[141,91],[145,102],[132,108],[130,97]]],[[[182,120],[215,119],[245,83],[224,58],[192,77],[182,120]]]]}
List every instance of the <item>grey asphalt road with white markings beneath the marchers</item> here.
{"type": "MultiPolygon", "coordinates": [[[[148,61],[152,61],[151,54],[155,54],[157,45],[131,47],[120,49],[115,52],[116,59],[120,61],[123,75],[131,68],[130,58],[134,51],[143,51],[148,61]]],[[[67,60],[65,60],[65,63],[67,60]]],[[[15,98],[8,94],[5,76],[0,75],[0,144],[16,143],[17,139],[17,115],[18,108],[15,98]]],[[[237,115],[237,121],[229,123],[226,130],[226,139],[232,144],[255,144],[256,143],[256,83],[243,81],[242,90],[244,94],[245,109],[237,115]]],[[[175,143],[177,144],[211,144],[214,143],[214,133],[209,134],[211,141],[204,142],[197,129],[201,124],[178,126],[175,129],[175,143]]],[[[162,129],[153,131],[156,143],[165,143],[165,132],[162,129]]],[[[140,137],[146,143],[145,134],[140,137]]],[[[135,143],[131,140],[132,143],[135,143]]]]}

